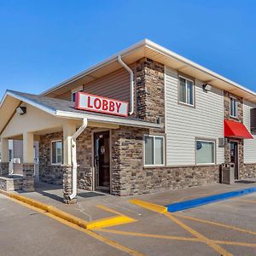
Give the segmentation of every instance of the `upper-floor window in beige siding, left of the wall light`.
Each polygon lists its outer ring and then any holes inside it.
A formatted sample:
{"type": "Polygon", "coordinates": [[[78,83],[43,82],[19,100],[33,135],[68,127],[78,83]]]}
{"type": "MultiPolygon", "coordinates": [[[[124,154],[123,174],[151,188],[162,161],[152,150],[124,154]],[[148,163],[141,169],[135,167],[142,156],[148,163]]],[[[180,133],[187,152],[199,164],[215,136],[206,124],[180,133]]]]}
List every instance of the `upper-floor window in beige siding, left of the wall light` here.
{"type": "Polygon", "coordinates": [[[179,77],[179,102],[194,106],[194,81],[179,77]]]}

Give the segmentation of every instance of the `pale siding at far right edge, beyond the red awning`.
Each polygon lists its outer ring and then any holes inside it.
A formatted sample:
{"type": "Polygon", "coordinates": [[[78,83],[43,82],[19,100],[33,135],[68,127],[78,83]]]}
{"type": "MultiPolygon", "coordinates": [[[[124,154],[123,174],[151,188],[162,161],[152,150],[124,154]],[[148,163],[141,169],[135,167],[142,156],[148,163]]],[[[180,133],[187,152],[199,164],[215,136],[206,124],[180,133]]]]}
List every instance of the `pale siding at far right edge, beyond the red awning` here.
{"type": "MultiPolygon", "coordinates": [[[[251,132],[251,108],[256,108],[256,104],[252,102],[243,102],[243,122],[247,130],[251,132]]],[[[256,134],[253,139],[244,140],[244,163],[256,163],[256,134]]]]}

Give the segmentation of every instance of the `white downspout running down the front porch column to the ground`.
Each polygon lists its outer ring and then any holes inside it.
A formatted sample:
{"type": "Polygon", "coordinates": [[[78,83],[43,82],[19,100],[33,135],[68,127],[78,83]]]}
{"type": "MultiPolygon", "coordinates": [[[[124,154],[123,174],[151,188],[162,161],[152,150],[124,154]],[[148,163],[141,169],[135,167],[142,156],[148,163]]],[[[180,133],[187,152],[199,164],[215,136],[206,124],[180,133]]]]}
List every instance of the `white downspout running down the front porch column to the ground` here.
{"type": "Polygon", "coordinates": [[[78,162],[77,162],[77,143],[76,140],[79,135],[84,131],[88,125],[88,120],[83,119],[82,125],[79,130],[73,134],[71,137],[71,156],[72,156],[72,194],[69,195],[69,200],[73,200],[78,194],[78,162]]]}

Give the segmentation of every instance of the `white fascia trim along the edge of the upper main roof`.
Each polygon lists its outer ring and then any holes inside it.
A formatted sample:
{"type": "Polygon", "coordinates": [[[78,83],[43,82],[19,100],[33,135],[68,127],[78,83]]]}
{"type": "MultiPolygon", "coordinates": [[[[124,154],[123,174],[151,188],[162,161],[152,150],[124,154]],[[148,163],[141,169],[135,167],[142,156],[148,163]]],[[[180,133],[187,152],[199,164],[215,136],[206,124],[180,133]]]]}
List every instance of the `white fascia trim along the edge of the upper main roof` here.
{"type": "Polygon", "coordinates": [[[143,39],[142,41],[138,42],[137,44],[133,44],[133,45],[131,45],[131,47],[124,49],[124,50],[120,51],[119,53],[108,57],[105,61],[102,61],[102,62],[84,70],[83,72],[73,76],[72,78],[63,81],[61,84],[57,84],[54,87],[49,88],[49,90],[45,90],[44,92],[41,93],[41,95],[44,96],[44,95],[48,94],[49,92],[52,92],[52,91],[57,90],[67,84],[70,84],[70,83],[82,78],[83,76],[88,75],[89,73],[96,71],[97,69],[104,67],[113,61],[116,61],[118,55],[121,55],[122,57],[124,57],[125,55],[129,55],[131,52],[135,51],[137,48],[142,47],[142,46],[154,49],[155,51],[160,52],[160,54],[167,55],[168,57],[176,59],[177,61],[181,61],[185,65],[188,65],[189,67],[194,67],[197,70],[199,70],[203,73],[206,73],[215,79],[221,80],[227,84],[230,84],[230,85],[236,87],[236,89],[244,90],[247,93],[251,94],[252,97],[256,96],[256,92],[254,92],[253,90],[249,90],[246,87],[242,86],[241,84],[237,84],[236,82],[231,81],[230,79],[226,79],[226,78],[224,78],[224,76],[221,76],[218,73],[215,73],[206,67],[202,67],[201,65],[195,63],[194,61],[189,61],[189,59],[183,57],[182,55],[177,55],[172,50],[166,49],[165,47],[160,46],[160,44],[155,44],[154,42],[152,42],[148,39],[143,39]]]}

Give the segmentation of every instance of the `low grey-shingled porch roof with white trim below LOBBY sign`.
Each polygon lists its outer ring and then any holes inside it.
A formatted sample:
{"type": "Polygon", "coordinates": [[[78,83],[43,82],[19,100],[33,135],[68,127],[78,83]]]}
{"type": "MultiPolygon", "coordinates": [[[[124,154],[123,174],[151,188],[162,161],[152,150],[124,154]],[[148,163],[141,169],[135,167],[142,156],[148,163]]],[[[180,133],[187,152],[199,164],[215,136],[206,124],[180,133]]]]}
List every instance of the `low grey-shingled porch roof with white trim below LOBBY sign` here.
{"type": "Polygon", "coordinates": [[[32,105],[35,108],[41,109],[46,113],[66,119],[87,118],[89,121],[145,128],[161,128],[163,126],[150,123],[142,119],[135,119],[133,117],[123,118],[110,114],[79,110],[75,108],[75,102],[55,99],[48,96],[24,93],[15,90],[7,90],[5,95],[3,96],[2,102],[0,103],[0,134],[2,133],[6,124],[9,122],[9,119],[12,118],[13,113],[15,113],[15,109],[20,105],[20,102],[26,102],[27,104],[32,105]],[[7,109],[9,110],[8,112],[7,109]]]}

